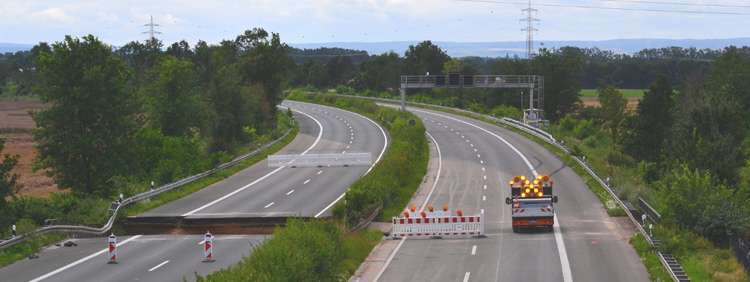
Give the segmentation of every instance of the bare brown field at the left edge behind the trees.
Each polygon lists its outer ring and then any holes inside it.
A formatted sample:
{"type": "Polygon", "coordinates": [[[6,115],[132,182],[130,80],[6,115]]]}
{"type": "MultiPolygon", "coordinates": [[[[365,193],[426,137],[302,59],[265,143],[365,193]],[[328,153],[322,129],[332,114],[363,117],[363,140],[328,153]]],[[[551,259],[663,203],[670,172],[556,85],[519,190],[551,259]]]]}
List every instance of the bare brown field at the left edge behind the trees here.
{"type": "Polygon", "coordinates": [[[36,156],[36,151],[29,131],[35,124],[28,111],[49,107],[49,104],[42,103],[0,102],[0,138],[5,139],[2,155],[21,156],[18,165],[11,170],[11,173],[21,175],[16,183],[21,195],[49,198],[51,192],[57,191],[57,185],[44,175],[44,171],[31,172],[31,162],[36,156]]]}

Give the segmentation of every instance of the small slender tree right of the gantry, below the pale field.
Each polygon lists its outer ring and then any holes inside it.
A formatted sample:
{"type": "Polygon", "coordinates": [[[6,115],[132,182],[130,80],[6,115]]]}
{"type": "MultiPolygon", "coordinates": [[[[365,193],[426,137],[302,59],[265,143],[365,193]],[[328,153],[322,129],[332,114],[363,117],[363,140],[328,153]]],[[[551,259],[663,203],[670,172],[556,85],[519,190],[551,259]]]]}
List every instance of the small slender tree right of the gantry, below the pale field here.
{"type": "Polygon", "coordinates": [[[612,84],[597,89],[597,92],[599,92],[599,103],[602,105],[602,114],[609,126],[612,147],[614,148],[620,140],[620,125],[625,120],[628,99],[622,97],[622,93],[612,84]]]}

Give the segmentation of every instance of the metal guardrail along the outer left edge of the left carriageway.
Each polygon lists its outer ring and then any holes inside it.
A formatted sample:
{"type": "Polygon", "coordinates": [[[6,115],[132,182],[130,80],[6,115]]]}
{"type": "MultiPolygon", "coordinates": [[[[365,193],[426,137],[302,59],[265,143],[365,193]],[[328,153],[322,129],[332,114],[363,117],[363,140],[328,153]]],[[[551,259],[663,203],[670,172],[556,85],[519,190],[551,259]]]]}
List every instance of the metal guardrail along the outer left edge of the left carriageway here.
{"type": "Polygon", "coordinates": [[[90,234],[103,234],[103,233],[109,231],[112,228],[112,226],[114,225],[114,222],[115,222],[115,218],[117,217],[117,212],[120,210],[121,207],[129,205],[129,204],[137,202],[137,201],[140,201],[140,200],[143,200],[143,199],[146,199],[146,198],[150,198],[150,197],[159,195],[161,193],[164,193],[164,192],[170,191],[170,190],[172,190],[174,188],[180,187],[182,185],[191,183],[193,181],[196,181],[196,180],[201,179],[203,177],[206,177],[208,175],[211,175],[211,174],[214,174],[216,172],[222,171],[222,170],[224,170],[224,169],[226,169],[226,168],[228,168],[230,166],[233,166],[233,165],[235,165],[235,164],[237,164],[237,163],[239,163],[241,161],[244,161],[244,160],[246,160],[246,159],[248,159],[248,158],[250,158],[252,156],[257,155],[258,153],[262,152],[263,150],[267,149],[268,147],[273,146],[274,144],[276,144],[279,141],[281,141],[282,139],[284,139],[287,135],[289,135],[289,133],[291,131],[292,131],[291,129],[288,129],[284,133],[284,135],[282,135],[278,139],[273,140],[273,141],[271,141],[268,144],[265,144],[263,146],[260,146],[260,147],[258,147],[258,149],[253,150],[250,153],[247,153],[245,155],[239,156],[239,157],[237,157],[237,158],[235,158],[235,159],[233,159],[233,160],[231,160],[229,162],[220,164],[219,166],[217,166],[216,168],[213,168],[211,170],[208,170],[208,171],[205,171],[205,172],[193,175],[193,176],[189,176],[189,177],[180,179],[180,180],[178,180],[176,182],[166,184],[164,186],[161,186],[161,187],[156,188],[156,189],[152,189],[150,191],[139,193],[139,194],[137,194],[135,196],[132,196],[132,197],[129,197],[129,198],[126,198],[126,199],[122,199],[122,201],[118,200],[118,201],[113,202],[110,205],[110,210],[113,211],[113,213],[109,217],[109,220],[107,220],[107,223],[104,224],[104,226],[102,226],[101,228],[89,227],[89,226],[77,226],[77,225],[48,225],[48,226],[44,226],[42,228],[39,228],[39,229],[35,230],[34,232],[32,232],[30,234],[23,234],[23,235],[11,238],[10,240],[6,240],[6,241],[0,242],[0,250],[5,249],[5,248],[7,248],[9,246],[12,246],[14,244],[26,241],[31,236],[43,235],[43,234],[52,233],[52,232],[79,232],[79,233],[90,233],[90,234]]]}

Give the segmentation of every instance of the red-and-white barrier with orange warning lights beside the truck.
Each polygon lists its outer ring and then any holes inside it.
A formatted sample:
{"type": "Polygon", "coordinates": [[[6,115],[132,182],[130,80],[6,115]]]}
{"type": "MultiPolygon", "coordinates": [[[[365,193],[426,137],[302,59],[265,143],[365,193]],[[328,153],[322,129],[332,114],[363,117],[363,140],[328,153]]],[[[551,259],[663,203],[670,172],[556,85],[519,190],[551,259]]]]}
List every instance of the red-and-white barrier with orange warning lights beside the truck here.
{"type": "MultiPolygon", "coordinates": [[[[447,210],[447,208],[446,208],[447,210]]],[[[475,216],[463,216],[459,210],[457,216],[439,215],[434,212],[421,212],[418,217],[412,216],[412,212],[405,211],[404,217],[393,218],[393,230],[391,236],[394,238],[405,237],[443,237],[443,236],[477,236],[485,237],[484,213],[475,216]],[[433,214],[431,214],[433,213],[433,214]]]]}

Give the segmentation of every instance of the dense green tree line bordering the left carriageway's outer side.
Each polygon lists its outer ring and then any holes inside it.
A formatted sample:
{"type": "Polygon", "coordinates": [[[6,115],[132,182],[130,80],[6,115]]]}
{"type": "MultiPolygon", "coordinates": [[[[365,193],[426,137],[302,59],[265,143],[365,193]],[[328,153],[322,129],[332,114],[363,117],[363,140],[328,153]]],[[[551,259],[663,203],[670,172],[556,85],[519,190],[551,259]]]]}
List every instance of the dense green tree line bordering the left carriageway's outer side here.
{"type": "MultiPolygon", "coordinates": [[[[116,49],[93,35],[40,43],[23,57],[32,93],[52,105],[30,112],[33,169],[72,197],[115,199],[231,160],[270,141],[259,138],[280,136],[273,125],[293,65],[287,48],[257,28],[217,45],[166,49],[158,39],[116,49]]],[[[17,175],[9,173],[16,162],[6,155],[0,163],[0,209],[7,196],[15,202],[13,212],[3,210],[3,229],[19,218],[45,219],[30,214],[29,205],[41,210],[37,200],[16,195],[17,175]]]]}

